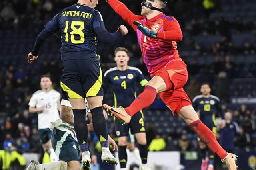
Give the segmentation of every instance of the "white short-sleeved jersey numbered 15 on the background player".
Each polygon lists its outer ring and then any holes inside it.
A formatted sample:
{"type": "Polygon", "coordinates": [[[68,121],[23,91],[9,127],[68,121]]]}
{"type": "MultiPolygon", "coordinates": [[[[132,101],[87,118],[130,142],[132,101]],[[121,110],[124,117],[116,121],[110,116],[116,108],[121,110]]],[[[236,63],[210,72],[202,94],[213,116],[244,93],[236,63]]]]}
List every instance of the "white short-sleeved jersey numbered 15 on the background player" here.
{"type": "Polygon", "coordinates": [[[50,122],[60,119],[58,102],[60,102],[60,93],[56,90],[47,93],[42,90],[34,92],[28,105],[36,108],[45,106],[44,111],[38,114],[38,129],[49,128],[50,122]]]}

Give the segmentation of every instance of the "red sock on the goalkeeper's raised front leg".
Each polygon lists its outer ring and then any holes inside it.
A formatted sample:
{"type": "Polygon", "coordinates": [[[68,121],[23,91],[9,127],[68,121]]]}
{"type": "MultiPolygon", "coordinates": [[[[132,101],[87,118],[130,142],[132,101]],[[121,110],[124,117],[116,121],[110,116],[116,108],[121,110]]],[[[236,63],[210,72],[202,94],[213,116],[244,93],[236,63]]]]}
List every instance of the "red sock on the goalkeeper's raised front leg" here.
{"type": "Polygon", "coordinates": [[[141,109],[150,106],[156,98],[156,89],[152,86],[145,86],[144,91],[132,102],[129,107],[125,108],[128,115],[133,116],[141,109]]]}

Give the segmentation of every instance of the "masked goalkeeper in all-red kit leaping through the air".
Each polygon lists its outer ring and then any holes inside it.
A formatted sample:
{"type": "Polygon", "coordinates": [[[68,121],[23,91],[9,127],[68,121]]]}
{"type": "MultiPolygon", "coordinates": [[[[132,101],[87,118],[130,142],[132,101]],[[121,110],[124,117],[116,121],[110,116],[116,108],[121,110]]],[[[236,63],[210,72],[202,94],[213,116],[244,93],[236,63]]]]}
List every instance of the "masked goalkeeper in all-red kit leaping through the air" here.
{"type": "Polygon", "coordinates": [[[129,123],[139,110],[150,106],[159,94],[172,114],[180,116],[200,137],[212,152],[216,153],[230,170],[236,170],[236,156],[227,153],[217,142],[212,131],[204,125],[193,109],[190,98],[183,89],[188,80],[186,64],[180,58],[177,41],[182,31],[173,16],[163,14],[168,0],[144,0],[141,16],[134,15],[122,2],[108,0],[108,4],[136,31],[144,63],[151,80],[129,107],[113,108],[106,104],[104,109],[118,119],[129,123]]]}

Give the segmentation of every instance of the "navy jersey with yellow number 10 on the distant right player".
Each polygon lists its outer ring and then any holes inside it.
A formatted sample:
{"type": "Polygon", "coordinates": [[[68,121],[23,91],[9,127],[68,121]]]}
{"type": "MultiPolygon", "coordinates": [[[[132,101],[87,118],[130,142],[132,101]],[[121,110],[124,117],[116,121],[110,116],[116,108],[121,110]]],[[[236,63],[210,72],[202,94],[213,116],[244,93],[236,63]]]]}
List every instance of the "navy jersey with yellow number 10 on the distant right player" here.
{"type": "Polygon", "coordinates": [[[210,95],[209,98],[198,95],[192,100],[192,103],[196,111],[200,110],[200,119],[207,127],[216,126],[216,113],[219,113],[222,119],[224,118],[220,99],[214,95],[210,95]]]}

